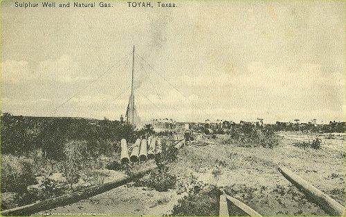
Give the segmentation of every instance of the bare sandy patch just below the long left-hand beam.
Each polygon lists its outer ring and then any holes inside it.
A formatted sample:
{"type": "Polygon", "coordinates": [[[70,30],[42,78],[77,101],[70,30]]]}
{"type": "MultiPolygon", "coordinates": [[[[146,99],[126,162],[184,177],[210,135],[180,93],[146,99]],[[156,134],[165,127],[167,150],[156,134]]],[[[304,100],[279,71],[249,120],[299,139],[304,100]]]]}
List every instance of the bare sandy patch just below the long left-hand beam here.
{"type": "Polygon", "coordinates": [[[175,191],[158,192],[145,187],[123,185],[72,205],[57,207],[33,215],[146,216],[150,214],[163,216],[170,214],[170,210],[178,199],[175,191]]]}

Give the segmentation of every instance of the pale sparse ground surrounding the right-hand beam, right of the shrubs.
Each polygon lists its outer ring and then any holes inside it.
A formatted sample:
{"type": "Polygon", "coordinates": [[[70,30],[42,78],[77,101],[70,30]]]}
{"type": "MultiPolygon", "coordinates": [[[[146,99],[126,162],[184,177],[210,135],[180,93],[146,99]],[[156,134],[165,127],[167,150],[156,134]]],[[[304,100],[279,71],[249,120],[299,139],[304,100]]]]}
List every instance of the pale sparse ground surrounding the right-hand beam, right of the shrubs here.
{"type": "Polygon", "coordinates": [[[220,140],[208,147],[185,147],[172,170],[224,188],[262,215],[327,215],[277,171],[275,164],[282,164],[345,204],[342,152],[300,149],[286,138],[274,149],[235,147],[220,140]]]}

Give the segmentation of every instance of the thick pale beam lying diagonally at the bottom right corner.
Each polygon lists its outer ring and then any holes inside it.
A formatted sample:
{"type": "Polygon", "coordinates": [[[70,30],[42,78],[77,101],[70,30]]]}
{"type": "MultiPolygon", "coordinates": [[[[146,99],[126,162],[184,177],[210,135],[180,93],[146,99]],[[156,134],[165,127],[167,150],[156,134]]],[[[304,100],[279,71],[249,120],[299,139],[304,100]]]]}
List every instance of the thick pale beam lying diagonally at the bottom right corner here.
{"type": "Polygon", "coordinates": [[[313,187],[309,182],[300,178],[300,176],[293,173],[293,171],[287,169],[286,167],[278,167],[280,173],[289,180],[295,187],[298,187],[304,194],[313,200],[314,203],[319,205],[328,214],[333,216],[343,216],[345,215],[345,207],[336,202],[336,200],[327,196],[327,194],[313,187]]]}

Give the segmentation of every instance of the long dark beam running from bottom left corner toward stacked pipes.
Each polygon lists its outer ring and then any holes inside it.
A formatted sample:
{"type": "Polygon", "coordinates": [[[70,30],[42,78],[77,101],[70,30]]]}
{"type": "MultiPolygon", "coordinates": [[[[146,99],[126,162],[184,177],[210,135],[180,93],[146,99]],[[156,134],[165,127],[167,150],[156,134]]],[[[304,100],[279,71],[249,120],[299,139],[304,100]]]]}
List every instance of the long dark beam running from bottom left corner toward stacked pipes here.
{"type": "Polygon", "coordinates": [[[44,211],[47,209],[53,209],[55,207],[62,207],[64,205],[69,205],[74,202],[78,202],[80,200],[84,200],[86,198],[90,198],[92,196],[102,194],[106,191],[110,191],[116,187],[120,187],[121,185],[125,185],[128,182],[134,180],[134,178],[140,178],[144,176],[149,171],[156,169],[157,166],[154,165],[147,169],[140,170],[136,173],[131,174],[131,176],[125,176],[123,178],[118,178],[113,180],[112,182],[104,183],[102,185],[97,185],[95,187],[89,187],[84,189],[83,191],[73,192],[71,194],[66,194],[64,196],[60,196],[57,198],[51,198],[48,200],[43,200],[34,204],[25,205],[22,207],[16,207],[13,209],[7,209],[1,211],[1,216],[29,216],[30,214],[35,214],[39,211],[44,211]]]}

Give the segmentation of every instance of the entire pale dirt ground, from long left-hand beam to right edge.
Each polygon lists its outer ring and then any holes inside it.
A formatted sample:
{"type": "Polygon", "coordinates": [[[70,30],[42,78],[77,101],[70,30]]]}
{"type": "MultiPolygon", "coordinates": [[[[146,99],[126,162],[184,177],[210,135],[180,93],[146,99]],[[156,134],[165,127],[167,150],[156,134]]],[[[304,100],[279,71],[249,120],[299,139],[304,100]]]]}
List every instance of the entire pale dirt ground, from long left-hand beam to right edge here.
{"type": "MultiPolygon", "coordinates": [[[[215,185],[255,209],[264,216],[327,215],[318,205],[307,200],[291,182],[286,180],[275,164],[283,165],[312,185],[345,205],[345,144],[336,139],[338,148],[322,138],[321,149],[293,147],[295,133],[279,133],[278,147],[236,147],[218,135],[215,144],[206,147],[183,147],[169,171],[176,176],[176,189],[158,192],[147,187],[125,185],[72,205],[42,211],[35,215],[116,215],[162,216],[172,214],[174,205],[185,193],[184,187],[197,178],[215,185]],[[323,143],[324,142],[324,143],[323,143]],[[343,147],[344,149],[340,149],[343,147]]],[[[335,141],[333,141],[335,142],[335,141]]],[[[147,162],[153,164],[154,162],[147,162]]],[[[123,176],[120,173],[113,176],[123,176]]],[[[111,180],[111,179],[110,179],[111,180]]],[[[218,209],[218,208],[217,208],[218,209]]]]}

